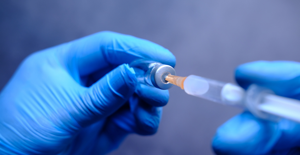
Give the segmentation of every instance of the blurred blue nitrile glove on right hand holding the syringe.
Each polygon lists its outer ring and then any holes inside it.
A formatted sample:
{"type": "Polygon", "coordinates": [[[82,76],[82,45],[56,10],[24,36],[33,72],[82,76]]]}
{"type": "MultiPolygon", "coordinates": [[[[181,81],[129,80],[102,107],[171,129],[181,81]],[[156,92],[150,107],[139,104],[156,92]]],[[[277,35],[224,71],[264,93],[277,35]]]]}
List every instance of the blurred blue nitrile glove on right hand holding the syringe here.
{"type": "MultiPolygon", "coordinates": [[[[300,63],[256,61],[236,70],[237,83],[247,88],[252,83],[268,87],[275,94],[300,99],[300,63]]],[[[300,114],[300,112],[299,112],[300,114]]],[[[265,121],[244,112],[220,126],[213,138],[218,155],[300,154],[300,124],[282,119],[265,121]]]]}

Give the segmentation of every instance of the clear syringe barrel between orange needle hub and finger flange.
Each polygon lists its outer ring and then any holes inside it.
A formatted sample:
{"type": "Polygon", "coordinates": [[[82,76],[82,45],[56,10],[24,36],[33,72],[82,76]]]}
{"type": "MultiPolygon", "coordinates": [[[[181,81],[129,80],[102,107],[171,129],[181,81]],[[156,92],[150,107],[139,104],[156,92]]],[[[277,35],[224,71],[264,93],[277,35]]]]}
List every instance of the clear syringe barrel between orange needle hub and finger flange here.
{"type": "Polygon", "coordinates": [[[187,94],[211,100],[221,104],[243,107],[245,91],[232,83],[203,78],[196,75],[188,76],[184,81],[187,94]]]}

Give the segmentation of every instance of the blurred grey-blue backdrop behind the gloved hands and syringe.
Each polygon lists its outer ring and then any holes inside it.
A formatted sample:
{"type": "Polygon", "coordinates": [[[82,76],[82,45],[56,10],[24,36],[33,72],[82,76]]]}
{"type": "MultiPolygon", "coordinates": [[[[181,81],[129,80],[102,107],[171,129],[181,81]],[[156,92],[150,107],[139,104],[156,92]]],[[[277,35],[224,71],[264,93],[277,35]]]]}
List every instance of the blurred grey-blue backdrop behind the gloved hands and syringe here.
{"type": "MultiPolygon", "coordinates": [[[[237,65],[300,61],[300,1],[2,0],[0,89],[30,53],[110,30],[176,56],[176,73],[234,82],[237,65]]],[[[112,155],[212,155],[217,129],[241,110],[170,90],[156,135],[130,135],[112,155]]]]}

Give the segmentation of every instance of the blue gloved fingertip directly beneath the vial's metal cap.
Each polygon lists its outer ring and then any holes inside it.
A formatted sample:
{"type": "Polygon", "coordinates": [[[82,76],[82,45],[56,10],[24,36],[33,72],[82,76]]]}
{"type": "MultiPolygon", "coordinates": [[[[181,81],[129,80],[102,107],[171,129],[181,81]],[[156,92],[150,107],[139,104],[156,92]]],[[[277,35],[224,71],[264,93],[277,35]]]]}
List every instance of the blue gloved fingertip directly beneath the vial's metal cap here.
{"type": "Polygon", "coordinates": [[[135,93],[140,99],[155,107],[165,106],[169,100],[168,90],[149,87],[141,83],[138,84],[135,93]]]}

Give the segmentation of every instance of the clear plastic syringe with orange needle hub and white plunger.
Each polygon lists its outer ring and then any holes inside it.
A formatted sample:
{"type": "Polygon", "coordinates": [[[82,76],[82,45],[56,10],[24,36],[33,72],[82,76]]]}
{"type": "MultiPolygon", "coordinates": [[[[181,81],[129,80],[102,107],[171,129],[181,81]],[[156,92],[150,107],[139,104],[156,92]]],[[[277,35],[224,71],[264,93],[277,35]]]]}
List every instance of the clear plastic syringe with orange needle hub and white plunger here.
{"type": "Polygon", "coordinates": [[[232,83],[220,82],[208,78],[190,75],[179,77],[168,75],[169,83],[196,97],[204,98],[225,105],[248,109],[257,117],[278,121],[281,117],[300,123],[300,101],[274,95],[264,87],[252,84],[245,91],[232,83]]]}

